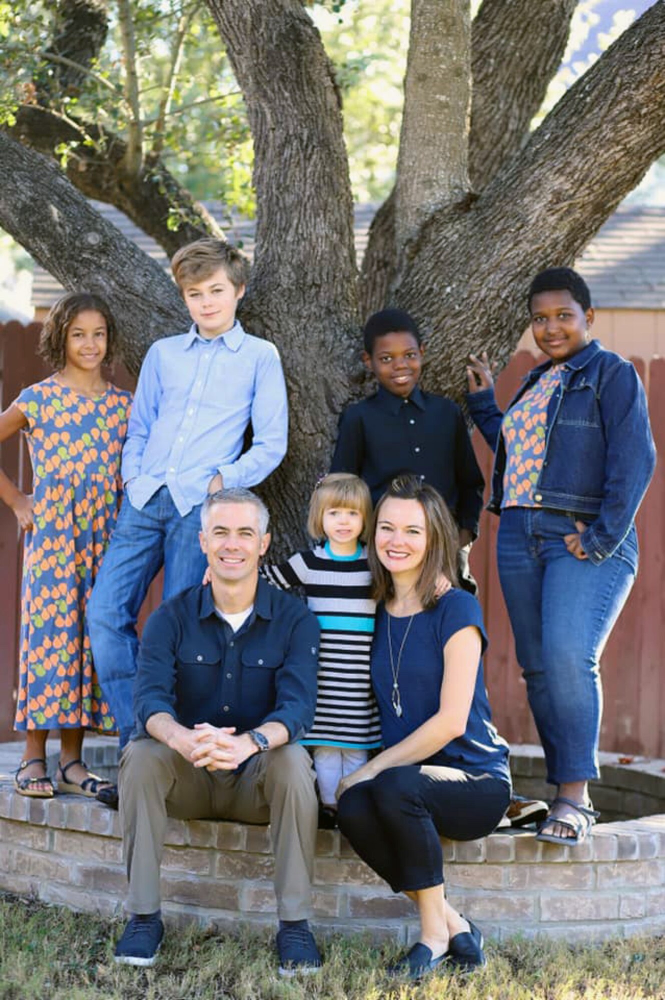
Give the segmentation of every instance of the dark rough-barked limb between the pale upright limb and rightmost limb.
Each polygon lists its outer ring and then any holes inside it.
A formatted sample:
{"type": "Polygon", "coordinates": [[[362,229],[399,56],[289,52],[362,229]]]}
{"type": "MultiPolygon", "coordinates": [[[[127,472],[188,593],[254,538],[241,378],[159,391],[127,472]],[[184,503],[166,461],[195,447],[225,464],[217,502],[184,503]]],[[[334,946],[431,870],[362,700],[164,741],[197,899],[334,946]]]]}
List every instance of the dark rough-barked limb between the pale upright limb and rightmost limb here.
{"type": "Polygon", "coordinates": [[[578,0],[484,0],[472,29],[469,170],[481,191],[519,151],[563,59],[578,0]]]}

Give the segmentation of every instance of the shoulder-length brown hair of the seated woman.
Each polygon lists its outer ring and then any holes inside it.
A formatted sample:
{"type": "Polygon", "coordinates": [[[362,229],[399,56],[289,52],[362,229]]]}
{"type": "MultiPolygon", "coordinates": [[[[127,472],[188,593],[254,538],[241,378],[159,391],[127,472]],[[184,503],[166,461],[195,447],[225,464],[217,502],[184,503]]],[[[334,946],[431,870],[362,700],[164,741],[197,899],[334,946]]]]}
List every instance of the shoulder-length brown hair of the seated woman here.
{"type": "Polygon", "coordinates": [[[416,583],[416,593],[427,611],[437,603],[437,581],[441,573],[448,577],[454,587],[458,585],[457,562],[460,546],[458,527],[446,501],[434,486],[422,482],[416,476],[399,476],[394,479],[377,504],[368,541],[368,561],[374,584],[373,596],[377,601],[390,601],[395,597],[393,577],[379,559],[376,540],[381,509],[386,501],[391,499],[417,500],[425,513],[427,547],[421,575],[416,583]]]}

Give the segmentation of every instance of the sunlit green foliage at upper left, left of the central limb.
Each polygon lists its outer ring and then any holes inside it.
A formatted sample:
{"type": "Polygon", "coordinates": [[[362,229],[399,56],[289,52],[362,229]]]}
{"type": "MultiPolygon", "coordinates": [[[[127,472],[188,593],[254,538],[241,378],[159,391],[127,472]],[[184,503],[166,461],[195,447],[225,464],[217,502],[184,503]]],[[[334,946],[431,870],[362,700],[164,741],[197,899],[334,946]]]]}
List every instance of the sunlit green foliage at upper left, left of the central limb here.
{"type": "MultiPolygon", "coordinates": [[[[80,87],[64,90],[62,67],[47,55],[56,11],[55,3],[0,2],[0,37],[8,38],[0,55],[0,125],[14,124],[21,104],[47,103],[81,126],[78,141],[55,149],[64,169],[81,146],[105,155],[107,133],[126,140],[132,114],[116,5],[109,5],[110,31],[98,60],[80,87]],[[101,133],[90,134],[86,123],[101,133]]],[[[252,149],[242,95],[205,4],[134,0],[132,13],[144,155],[160,153],[195,197],[225,200],[250,213],[252,149]],[[178,33],[182,51],[173,74],[178,33]]],[[[172,224],[177,227],[177,219],[172,224]]]]}

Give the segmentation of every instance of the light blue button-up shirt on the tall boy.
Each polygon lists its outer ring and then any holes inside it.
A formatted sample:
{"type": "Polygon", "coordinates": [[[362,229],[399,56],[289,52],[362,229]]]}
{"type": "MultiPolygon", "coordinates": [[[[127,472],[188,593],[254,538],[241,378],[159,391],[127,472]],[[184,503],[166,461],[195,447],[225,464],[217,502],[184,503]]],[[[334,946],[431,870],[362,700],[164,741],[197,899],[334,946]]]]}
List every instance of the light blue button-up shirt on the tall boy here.
{"type": "Polygon", "coordinates": [[[219,473],[255,486],[286,452],[286,388],[277,349],[236,321],[207,340],[188,333],[151,345],[141,366],[122,452],[122,479],[140,510],[164,484],[182,517],[219,473]],[[244,454],[251,422],[252,443],[244,454]]]}

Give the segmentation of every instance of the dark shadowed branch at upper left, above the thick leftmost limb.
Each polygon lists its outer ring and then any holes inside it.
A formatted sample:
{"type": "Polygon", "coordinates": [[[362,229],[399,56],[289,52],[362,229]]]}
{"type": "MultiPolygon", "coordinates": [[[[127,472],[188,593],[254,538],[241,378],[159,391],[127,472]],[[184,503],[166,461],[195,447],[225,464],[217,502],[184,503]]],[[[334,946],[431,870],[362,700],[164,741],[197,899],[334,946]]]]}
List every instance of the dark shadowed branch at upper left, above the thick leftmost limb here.
{"type": "Polygon", "coordinates": [[[124,212],[169,256],[201,236],[223,236],[209,212],[196,202],[164,167],[147,156],[137,177],[124,175],[126,145],[89,122],[64,119],[39,106],[24,105],[11,135],[37,152],[54,157],[61,143],[76,143],[67,159],[67,177],[88,198],[108,202],[124,212]],[[94,145],[84,145],[86,139],[94,145]],[[169,226],[175,219],[177,229],[169,226]]]}

